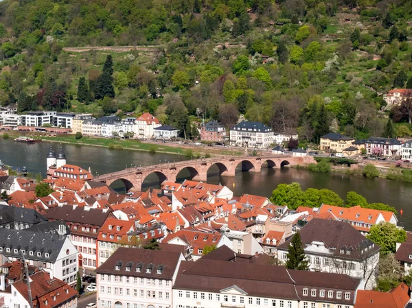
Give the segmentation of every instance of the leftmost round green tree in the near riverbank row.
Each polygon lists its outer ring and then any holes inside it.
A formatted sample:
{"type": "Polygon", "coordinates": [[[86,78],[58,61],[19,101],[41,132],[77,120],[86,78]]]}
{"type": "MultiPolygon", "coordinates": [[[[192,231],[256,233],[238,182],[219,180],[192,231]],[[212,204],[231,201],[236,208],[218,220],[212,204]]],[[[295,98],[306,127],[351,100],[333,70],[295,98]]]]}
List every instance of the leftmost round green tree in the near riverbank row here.
{"type": "Polygon", "coordinates": [[[299,183],[279,184],[272,192],[271,202],[277,205],[287,205],[289,209],[297,209],[304,204],[304,192],[299,183]]]}

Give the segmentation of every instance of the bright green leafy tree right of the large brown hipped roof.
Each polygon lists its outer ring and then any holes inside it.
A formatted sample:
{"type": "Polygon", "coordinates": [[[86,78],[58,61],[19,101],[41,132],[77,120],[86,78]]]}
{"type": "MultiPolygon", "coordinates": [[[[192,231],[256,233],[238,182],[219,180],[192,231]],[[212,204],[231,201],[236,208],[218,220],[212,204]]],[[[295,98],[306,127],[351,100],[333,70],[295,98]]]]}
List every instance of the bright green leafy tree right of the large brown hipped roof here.
{"type": "Polygon", "coordinates": [[[382,254],[389,252],[395,253],[396,243],[406,241],[407,232],[390,222],[380,222],[371,227],[367,238],[380,246],[380,252],[382,254]]]}

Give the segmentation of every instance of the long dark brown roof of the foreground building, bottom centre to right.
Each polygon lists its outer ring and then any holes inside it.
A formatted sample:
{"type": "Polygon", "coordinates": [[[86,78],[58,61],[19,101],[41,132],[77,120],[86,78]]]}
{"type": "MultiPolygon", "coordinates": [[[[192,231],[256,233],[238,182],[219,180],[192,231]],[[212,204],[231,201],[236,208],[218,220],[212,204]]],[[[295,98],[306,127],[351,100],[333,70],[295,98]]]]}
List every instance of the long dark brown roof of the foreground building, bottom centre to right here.
{"type": "Polygon", "coordinates": [[[196,262],[182,261],[174,289],[220,293],[236,286],[248,296],[299,300],[304,287],[319,287],[350,292],[351,300],[334,298],[330,301],[352,305],[350,303],[353,303],[359,282],[359,279],[343,274],[286,270],[279,265],[202,258],[196,262]]]}

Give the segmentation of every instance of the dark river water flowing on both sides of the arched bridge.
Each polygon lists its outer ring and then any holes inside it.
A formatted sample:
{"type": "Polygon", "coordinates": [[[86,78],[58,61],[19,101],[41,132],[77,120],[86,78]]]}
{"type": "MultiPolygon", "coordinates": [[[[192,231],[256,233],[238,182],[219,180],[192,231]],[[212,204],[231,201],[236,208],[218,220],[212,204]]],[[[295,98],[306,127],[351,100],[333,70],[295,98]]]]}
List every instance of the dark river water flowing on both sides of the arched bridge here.
{"type": "MultiPolygon", "coordinates": [[[[17,143],[12,139],[0,139],[0,159],[6,165],[14,167],[26,166],[29,172],[41,172],[45,175],[46,156],[50,146],[58,152],[58,143],[40,142],[34,144],[17,143]]],[[[119,171],[126,165],[155,165],[171,161],[184,161],[187,158],[174,154],[108,150],[104,147],[90,147],[81,145],[62,144],[66,153],[67,163],[79,165],[84,168],[91,167],[93,174],[106,174],[119,171]]],[[[216,167],[217,168],[217,167],[216,167]]],[[[360,176],[348,176],[346,174],[330,173],[317,174],[311,171],[293,168],[262,169],[261,173],[238,172],[234,177],[211,175],[207,182],[212,184],[227,185],[235,196],[242,193],[253,193],[259,196],[270,197],[273,189],[281,183],[298,182],[302,189],[309,187],[332,189],[345,198],[347,191],[356,191],[367,198],[368,202],[382,202],[394,206],[398,211],[403,210],[399,216],[400,226],[412,230],[412,183],[396,182],[382,178],[363,178],[360,176]],[[234,185],[234,186],[233,186],[234,185]]],[[[179,174],[183,180],[187,174],[184,171],[179,174]]],[[[156,185],[157,176],[148,177],[144,187],[156,185]]],[[[118,187],[117,187],[118,188],[118,187]]]]}

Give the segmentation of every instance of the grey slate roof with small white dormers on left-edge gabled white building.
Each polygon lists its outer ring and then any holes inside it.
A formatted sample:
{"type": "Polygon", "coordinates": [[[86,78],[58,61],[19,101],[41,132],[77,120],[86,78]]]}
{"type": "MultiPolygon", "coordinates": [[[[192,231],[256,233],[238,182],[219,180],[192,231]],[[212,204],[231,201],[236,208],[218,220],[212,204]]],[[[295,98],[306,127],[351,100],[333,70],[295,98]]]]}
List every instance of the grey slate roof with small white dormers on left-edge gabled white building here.
{"type": "Polygon", "coordinates": [[[42,231],[3,229],[0,232],[1,254],[5,257],[21,257],[20,250],[25,250],[27,259],[53,262],[56,261],[66,238],[67,235],[47,234],[42,231]],[[10,248],[10,252],[7,248],[10,248]],[[30,255],[30,251],[33,251],[33,255],[30,255]],[[46,253],[49,257],[45,256],[46,253]]]}

